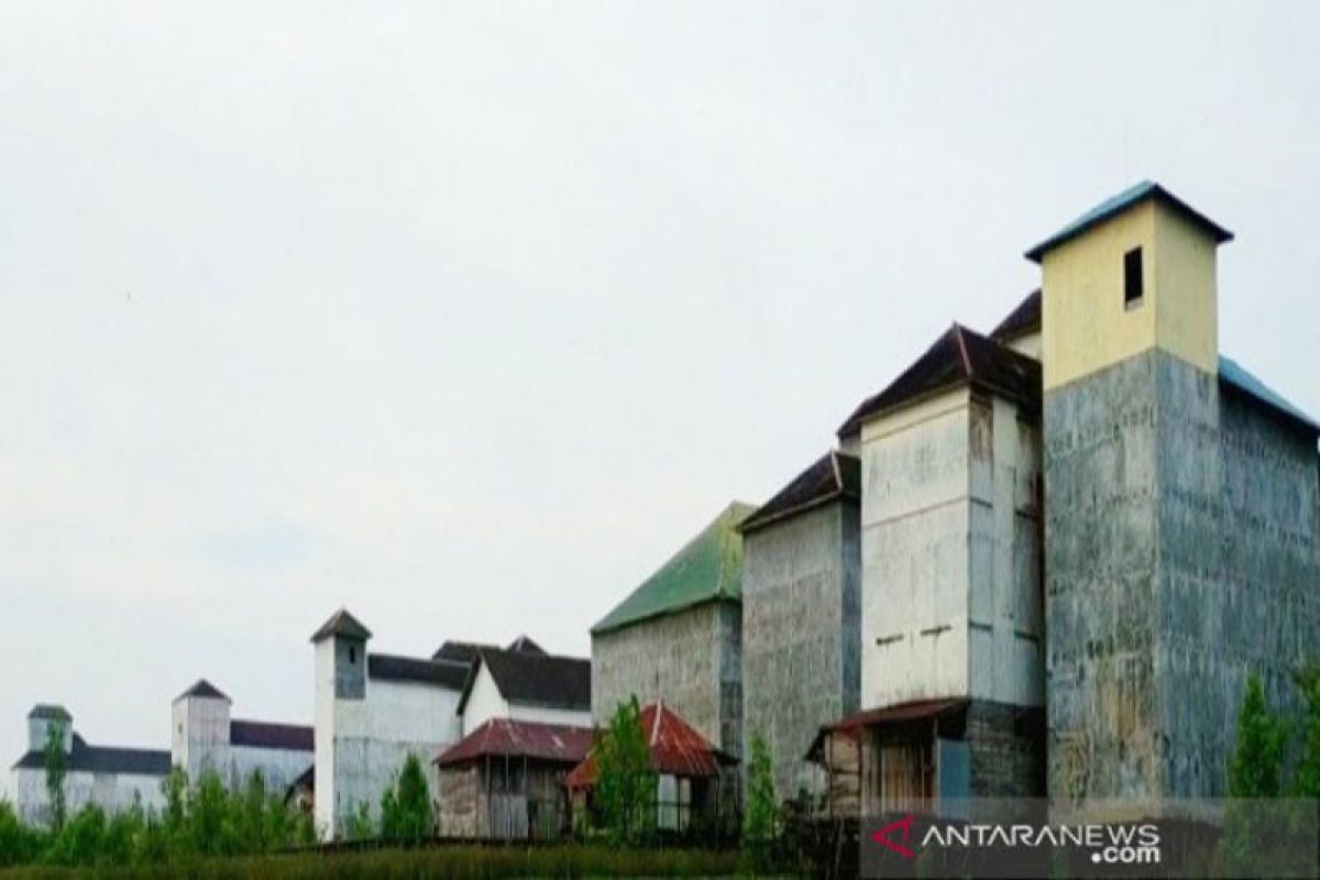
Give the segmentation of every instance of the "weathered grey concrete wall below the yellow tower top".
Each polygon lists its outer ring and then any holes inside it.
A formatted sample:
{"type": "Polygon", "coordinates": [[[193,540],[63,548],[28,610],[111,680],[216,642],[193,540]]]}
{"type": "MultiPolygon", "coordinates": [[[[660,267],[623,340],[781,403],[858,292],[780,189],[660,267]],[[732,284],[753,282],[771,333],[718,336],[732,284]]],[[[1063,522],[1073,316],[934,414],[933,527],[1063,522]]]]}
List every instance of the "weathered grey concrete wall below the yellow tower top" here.
{"type": "Polygon", "coordinates": [[[1246,676],[1320,645],[1315,445],[1159,351],[1044,409],[1051,794],[1220,796],[1246,676]]]}

